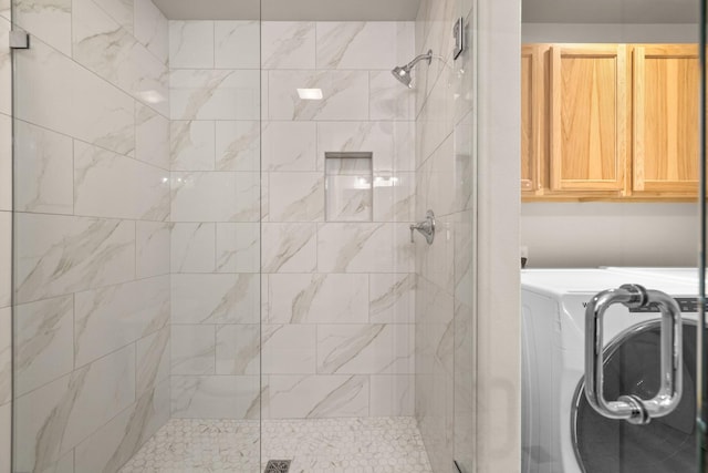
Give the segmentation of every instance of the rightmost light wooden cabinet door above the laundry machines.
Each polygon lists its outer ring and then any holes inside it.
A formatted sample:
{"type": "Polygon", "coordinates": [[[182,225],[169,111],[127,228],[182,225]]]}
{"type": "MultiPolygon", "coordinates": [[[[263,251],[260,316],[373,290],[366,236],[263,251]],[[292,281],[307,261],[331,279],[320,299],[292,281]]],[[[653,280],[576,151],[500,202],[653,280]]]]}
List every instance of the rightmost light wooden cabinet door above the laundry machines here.
{"type": "Polygon", "coordinates": [[[635,193],[698,193],[698,47],[633,48],[635,193]]]}

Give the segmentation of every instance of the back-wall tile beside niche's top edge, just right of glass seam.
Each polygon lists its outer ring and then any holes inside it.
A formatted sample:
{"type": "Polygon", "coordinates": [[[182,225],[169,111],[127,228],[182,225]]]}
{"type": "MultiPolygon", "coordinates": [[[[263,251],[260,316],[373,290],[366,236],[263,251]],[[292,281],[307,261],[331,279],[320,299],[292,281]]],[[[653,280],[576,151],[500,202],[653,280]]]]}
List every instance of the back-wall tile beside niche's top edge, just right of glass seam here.
{"type": "Polygon", "coordinates": [[[317,130],[313,122],[264,122],[263,171],[316,171],[317,130]]]}

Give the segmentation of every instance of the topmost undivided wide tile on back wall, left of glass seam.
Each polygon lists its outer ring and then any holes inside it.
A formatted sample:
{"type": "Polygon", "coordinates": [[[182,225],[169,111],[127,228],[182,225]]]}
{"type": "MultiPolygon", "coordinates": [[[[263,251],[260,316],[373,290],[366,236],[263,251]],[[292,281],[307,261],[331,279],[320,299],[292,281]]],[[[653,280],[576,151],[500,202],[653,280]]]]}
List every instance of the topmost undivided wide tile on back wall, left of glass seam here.
{"type": "Polygon", "coordinates": [[[173,120],[259,120],[258,70],[173,70],[173,120]]]}

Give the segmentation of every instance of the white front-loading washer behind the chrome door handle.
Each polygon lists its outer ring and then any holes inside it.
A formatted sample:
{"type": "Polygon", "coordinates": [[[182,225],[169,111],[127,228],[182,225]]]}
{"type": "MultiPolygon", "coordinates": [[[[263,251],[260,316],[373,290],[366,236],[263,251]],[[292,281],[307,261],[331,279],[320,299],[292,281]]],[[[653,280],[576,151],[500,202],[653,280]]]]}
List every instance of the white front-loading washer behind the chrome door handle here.
{"type": "MultiPolygon", "coordinates": [[[[522,287],[522,472],[676,473],[695,467],[696,285],[610,269],[528,269],[522,287]],[[684,316],[678,408],[648,425],[597,414],[584,395],[585,306],[625,284],[674,297],[684,316]]],[[[649,308],[649,310],[652,310],[649,308]]],[[[604,317],[605,398],[653,398],[660,313],[611,306],[604,317]]]]}

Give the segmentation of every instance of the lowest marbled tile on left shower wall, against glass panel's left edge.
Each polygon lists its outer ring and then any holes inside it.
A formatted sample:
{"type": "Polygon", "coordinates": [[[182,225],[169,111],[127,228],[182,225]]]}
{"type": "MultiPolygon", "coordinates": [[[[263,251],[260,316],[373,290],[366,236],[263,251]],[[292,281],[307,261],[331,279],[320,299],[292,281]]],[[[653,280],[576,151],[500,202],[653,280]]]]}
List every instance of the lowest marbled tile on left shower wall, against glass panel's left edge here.
{"type": "Polygon", "coordinates": [[[19,398],[17,469],[44,471],[134,401],[133,346],[19,398]]]}

